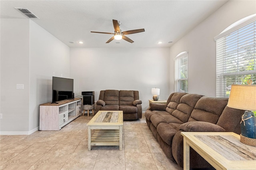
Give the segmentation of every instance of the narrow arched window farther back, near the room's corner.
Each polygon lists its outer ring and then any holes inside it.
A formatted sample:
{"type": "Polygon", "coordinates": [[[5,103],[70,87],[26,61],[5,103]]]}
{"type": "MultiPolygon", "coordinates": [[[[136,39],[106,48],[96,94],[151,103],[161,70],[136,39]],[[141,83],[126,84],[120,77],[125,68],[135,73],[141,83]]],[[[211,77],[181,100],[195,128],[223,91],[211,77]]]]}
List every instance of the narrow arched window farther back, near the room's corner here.
{"type": "Polygon", "coordinates": [[[188,52],[174,58],[174,91],[188,93],[188,52]]]}

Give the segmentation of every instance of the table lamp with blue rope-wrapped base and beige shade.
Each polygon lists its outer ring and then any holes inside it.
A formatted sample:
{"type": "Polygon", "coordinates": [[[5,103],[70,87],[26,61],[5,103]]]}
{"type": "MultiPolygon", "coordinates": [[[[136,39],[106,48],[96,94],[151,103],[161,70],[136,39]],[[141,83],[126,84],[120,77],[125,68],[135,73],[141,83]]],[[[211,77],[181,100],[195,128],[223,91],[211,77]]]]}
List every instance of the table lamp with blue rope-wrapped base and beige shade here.
{"type": "Polygon", "coordinates": [[[240,142],[256,146],[256,119],[252,112],[256,111],[256,85],[232,85],[227,106],[246,110],[240,123],[240,142]]]}

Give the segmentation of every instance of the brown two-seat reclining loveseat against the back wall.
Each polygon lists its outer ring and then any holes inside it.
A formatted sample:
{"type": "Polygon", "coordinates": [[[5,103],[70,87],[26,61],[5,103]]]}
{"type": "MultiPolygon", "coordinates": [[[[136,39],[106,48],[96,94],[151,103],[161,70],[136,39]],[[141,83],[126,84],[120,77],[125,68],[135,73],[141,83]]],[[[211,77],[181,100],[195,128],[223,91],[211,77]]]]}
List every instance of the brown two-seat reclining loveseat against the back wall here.
{"type": "Polygon", "coordinates": [[[142,101],[139,91],[135,90],[102,90],[95,110],[123,111],[124,120],[136,120],[142,117],[142,101]]]}

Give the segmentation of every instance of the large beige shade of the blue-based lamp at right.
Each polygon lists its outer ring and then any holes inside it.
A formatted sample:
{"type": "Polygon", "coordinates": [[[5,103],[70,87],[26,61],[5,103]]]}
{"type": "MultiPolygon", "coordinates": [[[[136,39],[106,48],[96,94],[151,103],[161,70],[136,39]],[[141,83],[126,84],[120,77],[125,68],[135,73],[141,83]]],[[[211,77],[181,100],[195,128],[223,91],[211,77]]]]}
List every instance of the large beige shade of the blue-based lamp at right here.
{"type": "Polygon", "coordinates": [[[256,85],[231,85],[227,106],[256,111],[256,85]]]}

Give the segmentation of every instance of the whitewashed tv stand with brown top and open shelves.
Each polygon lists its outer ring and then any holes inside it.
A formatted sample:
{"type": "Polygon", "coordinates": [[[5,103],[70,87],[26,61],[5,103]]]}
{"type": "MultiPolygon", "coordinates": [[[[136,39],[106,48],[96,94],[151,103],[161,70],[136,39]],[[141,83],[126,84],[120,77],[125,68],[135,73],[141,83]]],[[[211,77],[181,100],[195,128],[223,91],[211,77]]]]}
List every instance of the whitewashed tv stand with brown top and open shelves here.
{"type": "Polygon", "coordinates": [[[40,105],[39,130],[60,130],[82,113],[82,99],[40,105]]]}

